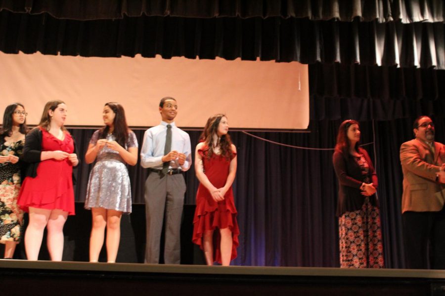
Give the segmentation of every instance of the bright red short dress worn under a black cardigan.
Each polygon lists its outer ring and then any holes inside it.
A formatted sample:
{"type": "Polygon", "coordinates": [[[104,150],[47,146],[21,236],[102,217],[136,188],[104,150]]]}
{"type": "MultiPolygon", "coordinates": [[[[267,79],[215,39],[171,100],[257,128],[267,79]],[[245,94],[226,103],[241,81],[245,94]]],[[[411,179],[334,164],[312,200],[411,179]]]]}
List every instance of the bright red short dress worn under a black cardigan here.
{"type": "MultiPolygon", "coordinates": [[[[74,141],[65,133],[63,141],[42,129],[42,151],[74,151],[74,141]]],[[[28,212],[29,207],[59,209],[74,215],[73,165],[68,160],[54,158],[41,161],[35,178],[26,177],[20,189],[17,204],[28,212]]]]}

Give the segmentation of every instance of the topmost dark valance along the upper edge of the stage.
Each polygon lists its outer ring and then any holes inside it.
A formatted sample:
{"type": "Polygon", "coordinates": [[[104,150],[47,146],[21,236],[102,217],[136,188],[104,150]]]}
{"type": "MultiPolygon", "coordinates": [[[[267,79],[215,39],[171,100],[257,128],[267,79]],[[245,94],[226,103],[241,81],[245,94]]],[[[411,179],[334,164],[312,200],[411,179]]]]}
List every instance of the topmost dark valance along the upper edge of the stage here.
{"type": "Polygon", "coordinates": [[[2,0],[0,10],[94,20],[125,16],[443,22],[443,0],[2,0]]]}

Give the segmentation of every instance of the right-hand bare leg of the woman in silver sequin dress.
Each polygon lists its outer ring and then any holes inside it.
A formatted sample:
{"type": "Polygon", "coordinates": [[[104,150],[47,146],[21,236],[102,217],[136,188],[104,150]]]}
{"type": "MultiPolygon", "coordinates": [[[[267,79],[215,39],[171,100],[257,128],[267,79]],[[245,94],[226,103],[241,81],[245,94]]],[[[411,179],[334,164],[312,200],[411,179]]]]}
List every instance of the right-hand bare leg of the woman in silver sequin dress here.
{"type": "Polygon", "coordinates": [[[116,262],[121,240],[121,217],[122,212],[115,210],[107,211],[107,262],[116,262]]]}

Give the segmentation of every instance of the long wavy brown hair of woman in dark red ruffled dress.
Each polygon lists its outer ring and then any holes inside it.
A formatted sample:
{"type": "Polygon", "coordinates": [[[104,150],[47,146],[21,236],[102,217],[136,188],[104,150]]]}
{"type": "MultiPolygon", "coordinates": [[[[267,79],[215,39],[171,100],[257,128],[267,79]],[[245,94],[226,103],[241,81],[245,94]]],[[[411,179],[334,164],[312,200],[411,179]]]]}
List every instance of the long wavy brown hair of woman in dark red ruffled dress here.
{"type": "MultiPolygon", "coordinates": [[[[207,154],[207,158],[210,158],[214,153],[213,147],[213,135],[217,134],[218,126],[220,125],[221,118],[227,117],[224,114],[216,114],[209,119],[207,119],[206,126],[201,133],[200,141],[205,142],[207,147],[209,148],[209,152],[207,154]]],[[[221,155],[223,155],[226,159],[230,159],[230,155],[232,154],[232,141],[230,140],[229,134],[222,135],[217,143],[217,147],[221,149],[221,155]]]]}

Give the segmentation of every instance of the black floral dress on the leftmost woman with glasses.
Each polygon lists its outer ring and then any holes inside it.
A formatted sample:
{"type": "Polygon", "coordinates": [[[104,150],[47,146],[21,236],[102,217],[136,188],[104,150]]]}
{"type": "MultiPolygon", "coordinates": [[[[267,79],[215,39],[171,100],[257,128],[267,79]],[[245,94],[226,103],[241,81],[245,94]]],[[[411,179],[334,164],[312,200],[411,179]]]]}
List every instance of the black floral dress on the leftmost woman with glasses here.
{"type": "MultiPolygon", "coordinates": [[[[0,154],[20,156],[25,140],[4,141],[0,154]]],[[[17,205],[20,191],[20,164],[0,163],[0,243],[20,242],[22,236],[23,211],[17,205]]]]}

